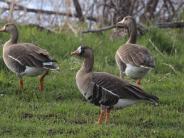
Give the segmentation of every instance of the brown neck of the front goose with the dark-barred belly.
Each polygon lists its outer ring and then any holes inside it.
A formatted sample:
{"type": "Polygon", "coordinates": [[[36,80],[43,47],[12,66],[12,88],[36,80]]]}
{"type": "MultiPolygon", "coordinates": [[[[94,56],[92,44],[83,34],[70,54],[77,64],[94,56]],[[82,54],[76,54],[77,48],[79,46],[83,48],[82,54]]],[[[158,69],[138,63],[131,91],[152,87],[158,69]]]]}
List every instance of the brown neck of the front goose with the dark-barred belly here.
{"type": "Polygon", "coordinates": [[[93,70],[93,64],[94,64],[94,56],[93,54],[89,54],[85,59],[84,63],[82,65],[82,70],[84,70],[86,73],[89,73],[93,70]]]}

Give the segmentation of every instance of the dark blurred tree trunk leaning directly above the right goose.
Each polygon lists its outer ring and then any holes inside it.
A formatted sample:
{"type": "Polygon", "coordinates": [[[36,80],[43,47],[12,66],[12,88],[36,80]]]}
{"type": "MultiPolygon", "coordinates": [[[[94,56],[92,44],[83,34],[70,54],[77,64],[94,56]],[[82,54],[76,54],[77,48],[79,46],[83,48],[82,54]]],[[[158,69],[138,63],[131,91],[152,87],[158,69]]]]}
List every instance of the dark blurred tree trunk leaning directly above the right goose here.
{"type": "Polygon", "coordinates": [[[159,0],[149,0],[148,1],[145,7],[144,13],[140,16],[140,21],[142,23],[146,23],[154,19],[155,17],[154,13],[155,13],[158,2],[159,0]]]}

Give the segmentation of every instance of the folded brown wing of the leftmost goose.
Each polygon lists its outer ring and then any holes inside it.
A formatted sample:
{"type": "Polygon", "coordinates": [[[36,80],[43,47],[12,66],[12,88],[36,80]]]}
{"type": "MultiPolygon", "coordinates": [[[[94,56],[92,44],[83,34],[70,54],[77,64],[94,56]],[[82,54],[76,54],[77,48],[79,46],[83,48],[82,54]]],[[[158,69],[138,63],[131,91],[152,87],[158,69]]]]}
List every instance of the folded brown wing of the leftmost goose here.
{"type": "Polygon", "coordinates": [[[56,69],[56,60],[49,56],[45,49],[41,49],[31,43],[20,43],[11,45],[8,57],[23,66],[56,69]]]}

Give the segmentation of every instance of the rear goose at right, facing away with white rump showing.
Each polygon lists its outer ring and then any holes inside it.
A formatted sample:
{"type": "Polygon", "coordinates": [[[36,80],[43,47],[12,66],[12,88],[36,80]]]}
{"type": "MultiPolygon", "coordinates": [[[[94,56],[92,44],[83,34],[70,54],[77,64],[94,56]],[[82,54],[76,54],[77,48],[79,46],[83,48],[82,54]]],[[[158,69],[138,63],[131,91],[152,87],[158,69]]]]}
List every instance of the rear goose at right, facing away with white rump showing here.
{"type": "Polygon", "coordinates": [[[136,80],[137,85],[141,84],[141,79],[151,68],[155,67],[155,62],[149,50],[136,44],[137,27],[131,16],[126,16],[117,23],[117,27],[128,30],[129,39],[126,44],[116,51],[115,59],[120,69],[120,77],[124,75],[136,80]]]}

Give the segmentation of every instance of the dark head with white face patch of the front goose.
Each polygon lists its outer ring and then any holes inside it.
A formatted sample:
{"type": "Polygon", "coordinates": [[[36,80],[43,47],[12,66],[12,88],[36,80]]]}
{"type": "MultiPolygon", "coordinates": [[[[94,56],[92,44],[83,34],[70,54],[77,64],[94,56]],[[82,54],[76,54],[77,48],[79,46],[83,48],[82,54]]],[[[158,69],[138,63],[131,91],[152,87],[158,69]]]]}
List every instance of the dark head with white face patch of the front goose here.
{"type": "Polygon", "coordinates": [[[91,48],[81,45],[75,51],[71,52],[71,55],[81,58],[87,58],[93,55],[93,51],[91,48]]]}

